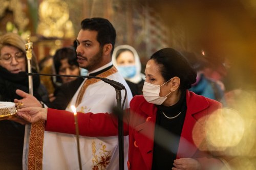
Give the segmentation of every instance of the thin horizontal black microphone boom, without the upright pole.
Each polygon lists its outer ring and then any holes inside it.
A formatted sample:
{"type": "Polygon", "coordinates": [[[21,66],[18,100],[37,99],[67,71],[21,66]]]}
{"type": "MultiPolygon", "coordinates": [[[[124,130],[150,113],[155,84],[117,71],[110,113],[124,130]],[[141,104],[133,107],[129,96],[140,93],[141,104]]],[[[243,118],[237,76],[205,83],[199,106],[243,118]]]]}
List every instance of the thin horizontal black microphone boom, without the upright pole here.
{"type": "Polygon", "coordinates": [[[117,81],[110,80],[110,79],[107,79],[107,78],[101,78],[101,77],[97,77],[97,76],[52,75],[52,74],[38,74],[38,73],[35,73],[35,72],[28,73],[26,71],[19,71],[18,74],[19,74],[20,77],[26,77],[26,76],[58,76],[58,77],[81,77],[81,78],[100,79],[103,82],[108,83],[109,85],[113,86],[117,90],[125,89],[124,85],[117,82],[117,81]]]}

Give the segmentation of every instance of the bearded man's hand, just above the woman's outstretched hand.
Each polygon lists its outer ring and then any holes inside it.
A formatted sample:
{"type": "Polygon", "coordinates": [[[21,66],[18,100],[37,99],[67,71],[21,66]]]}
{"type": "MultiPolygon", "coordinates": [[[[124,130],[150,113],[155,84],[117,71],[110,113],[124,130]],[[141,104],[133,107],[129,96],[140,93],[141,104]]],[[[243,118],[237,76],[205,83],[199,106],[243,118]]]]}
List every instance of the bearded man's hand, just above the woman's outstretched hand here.
{"type": "Polygon", "coordinates": [[[16,90],[16,93],[21,96],[23,99],[21,100],[17,100],[14,99],[14,103],[16,103],[16,106],[18,106],[18,104],[22,103],[23,105],[19,108],[23,108],[23,107],[42,107],[41,103],[31,94],[26,93],[22,90],[16,90]]]}

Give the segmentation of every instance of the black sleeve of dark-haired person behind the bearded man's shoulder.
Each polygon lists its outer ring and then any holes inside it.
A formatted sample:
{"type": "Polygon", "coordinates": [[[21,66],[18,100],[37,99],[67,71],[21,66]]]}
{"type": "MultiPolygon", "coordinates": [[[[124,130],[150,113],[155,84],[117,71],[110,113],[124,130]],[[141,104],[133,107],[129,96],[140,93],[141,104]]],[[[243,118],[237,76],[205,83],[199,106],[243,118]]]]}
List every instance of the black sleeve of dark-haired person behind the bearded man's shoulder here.
{"type": "Polygon", "coordinates": [[[65,83],[58,87],[54,92],[56,99],[53,102],[47,104],[47,106],[49,108],[65,110],[83,80],[83,78],[77,78],[72,82],[65,83]]]}

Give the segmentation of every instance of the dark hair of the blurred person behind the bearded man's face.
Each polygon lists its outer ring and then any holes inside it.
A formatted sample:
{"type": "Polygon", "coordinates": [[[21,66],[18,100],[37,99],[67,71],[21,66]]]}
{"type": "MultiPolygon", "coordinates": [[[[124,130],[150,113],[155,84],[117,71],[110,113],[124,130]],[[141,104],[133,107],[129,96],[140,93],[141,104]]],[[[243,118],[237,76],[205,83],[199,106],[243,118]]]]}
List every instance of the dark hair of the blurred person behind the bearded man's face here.
{"type": "Polygon", "coordinates": [[[53,56],[54,68],[56,74],[59,74],[59,67],[61,66],[61,60],[68,59],[70,65],[76,65],[79,67],[76,61],[76,52],[73,47],[59,48],[53,56]]]}

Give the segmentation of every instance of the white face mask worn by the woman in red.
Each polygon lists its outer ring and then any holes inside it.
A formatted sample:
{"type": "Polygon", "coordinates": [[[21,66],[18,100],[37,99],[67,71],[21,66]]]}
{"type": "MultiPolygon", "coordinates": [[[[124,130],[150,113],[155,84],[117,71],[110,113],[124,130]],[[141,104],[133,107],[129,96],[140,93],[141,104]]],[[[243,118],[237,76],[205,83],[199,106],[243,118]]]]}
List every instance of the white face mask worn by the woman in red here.
{"type": "MultiPolygon", "coordinates": [[[[170,80],[172,80],[172,79],[170,79],[170,80]]],[[[167,82],[169,82],[170,80],[168,80],[167,82]]],[[[167,82],[165,82],[165,83],[167,83],[167,82]]],[[[162,84],[161,86],[163,86],[164,84],[162,84]]],[[[160,93],[161,86],[144,82],[142,91],[143,91],[143,96],[148,103],[153,103],[155,105],[161,105],[167,99],[167,95],[172,93],[172,91],[171,91],[165,96],[160,96],[159,93],[160,93]]]]}

